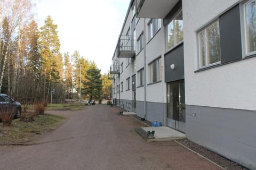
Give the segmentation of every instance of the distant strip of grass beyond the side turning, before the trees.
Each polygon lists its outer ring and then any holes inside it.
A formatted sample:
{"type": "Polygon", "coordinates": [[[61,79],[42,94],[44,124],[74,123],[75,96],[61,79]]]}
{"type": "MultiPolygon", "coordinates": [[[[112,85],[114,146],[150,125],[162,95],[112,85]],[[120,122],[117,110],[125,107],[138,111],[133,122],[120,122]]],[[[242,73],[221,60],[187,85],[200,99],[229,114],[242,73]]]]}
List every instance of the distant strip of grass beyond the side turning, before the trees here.
{"type": "Polygon", "coordinates": [[[58,110],[67,110],[67,111],[80,111],[85,107],[83,103],[65,103],[65,104],[48,104],[46,111],[58,111],[58,110]]]}

